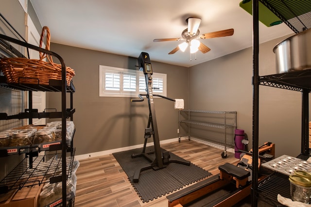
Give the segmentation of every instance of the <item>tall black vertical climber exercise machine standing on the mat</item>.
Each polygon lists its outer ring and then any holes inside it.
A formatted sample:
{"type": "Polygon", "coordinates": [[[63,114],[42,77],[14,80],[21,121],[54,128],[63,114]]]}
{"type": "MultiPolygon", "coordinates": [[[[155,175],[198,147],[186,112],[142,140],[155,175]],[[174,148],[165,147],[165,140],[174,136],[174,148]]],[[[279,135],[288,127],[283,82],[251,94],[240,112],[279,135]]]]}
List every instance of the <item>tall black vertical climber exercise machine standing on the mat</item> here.
{"type": "Polygon", "coordinates": [[[143,156],[145,159],[147,159],[149,162],[151,162],[149,165],[139,168],[135,171],[134,177],[133,177],[133,182],[138,182],[139,175],[141,171],[151,169],[153,168],[154,170],[158,170],[161,168],[165,168],[169,163],[175,162],[175,163],[180,163],[180,164],[185,164],[185,165],[190,165],[190,161],[185,161],[184,159],[170,159],[170,152],[168,151],[161,151],[160,148],[160,141],[159,141],[159,135],[157,131],[157,125],[156,125],[156,118],[155,118],[155,103],[154,103],[154,96],[159,96],[171,101],[175,101],[172,98],[161,96],[161,95],[156,95],[153,93],[153,88],[152,88],[152,67],[151,67],[151,62],[149,58],[149,54],[146,52],[141,52],[139,57],[138,57],[138,67],[139,70],[142,70],[143,73],[145,74],[145,81],[146,81],[146,91],[147,94],[139,94],[138,97],[140,98],[139,100],[131,100],[133,102],[135,101],[143,101],[144,98],[142,96],[146,96],[148,99],[148,105],[149,105],[149,120],[148,120],[148,125],[147,128],[145,128],[145,135],[144,135],[144,146],[142,149],[142,152],[139,154],[133,154],[132,158],[137,158],[143,156]],[[147,145],[147,139],[153,136],[154,140],[154,148],[155,151],[152,152],[146,152],[146,145],[147,145]],[[155,159],[154,156],[155,155],[155,159]]]}

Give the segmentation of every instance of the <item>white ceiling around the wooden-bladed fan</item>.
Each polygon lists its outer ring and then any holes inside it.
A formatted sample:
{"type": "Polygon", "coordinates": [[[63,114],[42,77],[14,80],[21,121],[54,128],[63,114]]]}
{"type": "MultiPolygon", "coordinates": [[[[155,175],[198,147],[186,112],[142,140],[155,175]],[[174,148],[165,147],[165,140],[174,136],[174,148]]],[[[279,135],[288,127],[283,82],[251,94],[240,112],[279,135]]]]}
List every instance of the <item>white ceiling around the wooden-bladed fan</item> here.
{"type": "MultiPolygon", "coordinates": [[[[151,61],[190,67],[252,47],[252,16],[242,0],[31,0],[42,26],[51,30],[51,42],[138,57],[149,53],[151,61]],[[211,50],[191,55],[168,53],[180,42],[153,42],[179,38],[186,19],[202,19],[200,33],[234,29],[227,37],[202,39],[211,50]]],[[[259,22],[259,41],[294,33],[284,23],[266,27],[259,22]]],[[[273,48],[271,48],[273,49],[273,48]]]]}

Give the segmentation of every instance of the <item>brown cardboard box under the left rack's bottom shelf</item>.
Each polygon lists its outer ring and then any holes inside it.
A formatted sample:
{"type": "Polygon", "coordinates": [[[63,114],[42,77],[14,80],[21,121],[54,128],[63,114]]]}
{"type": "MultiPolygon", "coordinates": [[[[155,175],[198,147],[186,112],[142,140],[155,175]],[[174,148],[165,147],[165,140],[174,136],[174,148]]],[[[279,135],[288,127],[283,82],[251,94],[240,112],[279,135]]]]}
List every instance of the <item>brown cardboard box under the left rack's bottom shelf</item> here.
{"type": "Polygon", "coordinates": [[[0,207],[38,207],[39,194],[43,185],[25,187],[17,191],[13,198],[0,204],[0,207]]]}

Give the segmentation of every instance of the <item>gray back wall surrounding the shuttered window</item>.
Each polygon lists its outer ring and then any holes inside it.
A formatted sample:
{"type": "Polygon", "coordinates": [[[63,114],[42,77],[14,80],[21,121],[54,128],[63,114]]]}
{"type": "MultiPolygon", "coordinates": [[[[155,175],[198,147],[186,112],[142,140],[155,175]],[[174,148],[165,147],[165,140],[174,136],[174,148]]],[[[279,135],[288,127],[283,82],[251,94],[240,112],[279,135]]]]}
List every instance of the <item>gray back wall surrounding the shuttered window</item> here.
{"type": "MultiPolygon", "coordinates": [[[[131,102],[131,98],[99,97],[99,65],[135,69],[139,54],[131,58],[55,43],[51,44],[51,50],[61,55],[76,73],[73,77],[76,154],[142,144],[149,115],[147,100],[131,102]]],[[[167,96],[185,99],[188,107],[188,68],[153,61],[152,67],[155,73],[167,74],[167,96]]],[[[48,108],[60,109],[59,96],[49,93],[48,108]]],[[[160,141],[178,137],[174,102],[156,98],[155,111],[160,141]]]]}

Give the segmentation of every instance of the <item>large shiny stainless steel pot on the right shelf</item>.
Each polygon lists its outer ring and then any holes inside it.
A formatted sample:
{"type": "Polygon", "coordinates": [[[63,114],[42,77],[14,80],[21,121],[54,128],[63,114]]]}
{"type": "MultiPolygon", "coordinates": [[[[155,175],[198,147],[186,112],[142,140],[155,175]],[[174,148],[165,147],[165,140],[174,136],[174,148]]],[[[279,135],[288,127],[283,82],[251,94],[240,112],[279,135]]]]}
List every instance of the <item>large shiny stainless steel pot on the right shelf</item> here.
{"type": "Polygon", "coordinates": [[[276,45],[276,72],[311,69],[311,29],[299,32],[276,45]]]}

